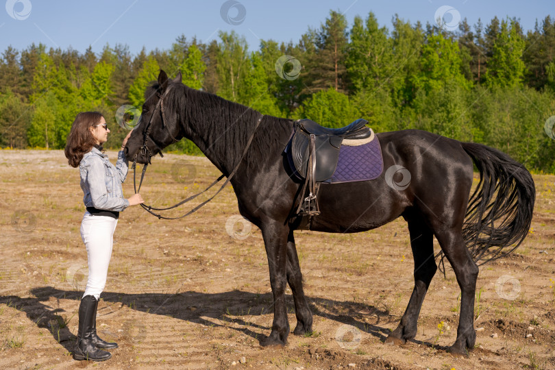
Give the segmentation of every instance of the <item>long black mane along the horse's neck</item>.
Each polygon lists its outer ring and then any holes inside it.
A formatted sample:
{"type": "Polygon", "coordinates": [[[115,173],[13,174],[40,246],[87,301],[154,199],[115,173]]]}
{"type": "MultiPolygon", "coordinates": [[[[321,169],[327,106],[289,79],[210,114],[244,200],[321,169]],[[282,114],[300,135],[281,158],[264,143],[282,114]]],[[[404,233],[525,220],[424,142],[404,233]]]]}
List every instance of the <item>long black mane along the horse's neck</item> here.
{"type": "MultiPolygon", "coordinates": [[[[152,84],[147,94],[156,93],[158,87],[158,83],[152,84]]],[[[261,113],[179,82],[171,82],[168,88],[172,91],[164,102],[177,107],[177,112],[186,120],[194,121],[197,132],[208,133],[210,145],[205,154],[212,153],[216,158],[233,158],[232,164],[236,164],[261,113]]],[[[291,132],[292,129],[291,120],[264,116],[249,149],[249,166],[267,156],[268,150],[276,145],[284,147],[286,143],[280,138],[283,138],[284,132],[291,132]],[[260,132],[264,134],[260,135],[260,132]]]]}

